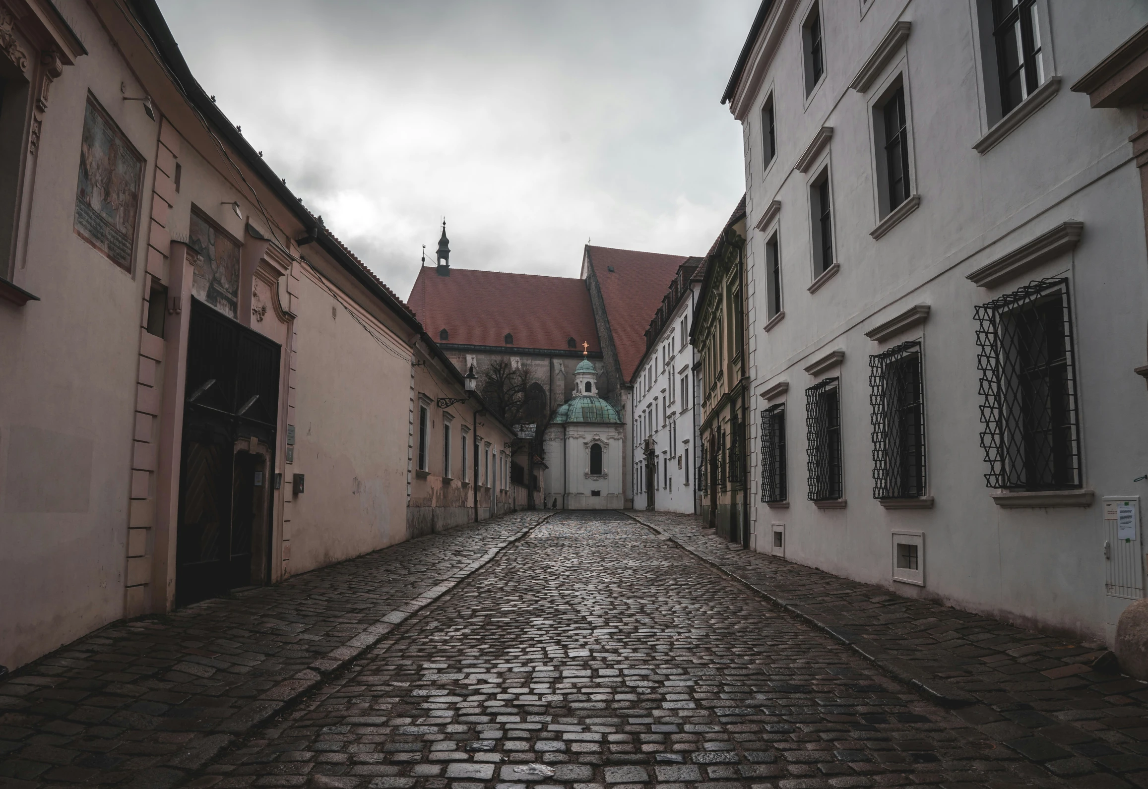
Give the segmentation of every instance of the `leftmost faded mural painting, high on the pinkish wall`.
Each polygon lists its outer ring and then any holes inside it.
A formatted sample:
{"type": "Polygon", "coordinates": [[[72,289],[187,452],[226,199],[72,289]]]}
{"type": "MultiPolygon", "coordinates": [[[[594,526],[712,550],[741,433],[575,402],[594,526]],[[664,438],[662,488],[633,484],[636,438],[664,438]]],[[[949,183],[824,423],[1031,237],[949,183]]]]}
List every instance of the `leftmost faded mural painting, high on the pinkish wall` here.
{"type": "Polygon", "coordinates": [[[132,269],[144,157],[88,94],[76,188],[76,233],[132,269]]]}

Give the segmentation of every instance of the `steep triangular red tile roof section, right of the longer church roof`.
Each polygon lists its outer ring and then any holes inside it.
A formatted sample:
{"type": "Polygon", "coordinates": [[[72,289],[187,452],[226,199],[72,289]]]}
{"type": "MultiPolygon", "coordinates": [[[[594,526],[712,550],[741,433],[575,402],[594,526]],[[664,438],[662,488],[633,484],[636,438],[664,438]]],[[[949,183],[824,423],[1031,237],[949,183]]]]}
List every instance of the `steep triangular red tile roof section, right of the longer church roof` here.
{"type": "Polygon", "coordinates": [[[634,376],[645,353],[645,330],[666,289],[685,263],[684,255],[634,252],[628,249],[587,247],[590,266],[602,287],[602,300],[614,337],[622,380],[634,376]],[[613,266],[614,271],[610,271],[613,266]]]}

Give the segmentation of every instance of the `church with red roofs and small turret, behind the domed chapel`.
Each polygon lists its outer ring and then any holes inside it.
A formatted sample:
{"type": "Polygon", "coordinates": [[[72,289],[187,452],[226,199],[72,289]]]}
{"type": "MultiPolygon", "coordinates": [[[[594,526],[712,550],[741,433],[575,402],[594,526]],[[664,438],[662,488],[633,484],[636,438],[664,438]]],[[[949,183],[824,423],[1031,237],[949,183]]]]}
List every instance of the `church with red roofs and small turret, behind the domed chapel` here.
{"type": "MultiPolygon", "coordinates": [[[[540,439],[573,394],[583,351],[598,373],[599,396],[628,431],[628,382],[645,352],[650,315],[687,257],[587,244],[576,279],[457,268],[443,222],[436,263],[419,269],[406,304],[464,374],[473,365],[481,376],[496,362],[526,370],[526,412],[540,439]]],[[[628,458],[621,468],[629,468],[628,458]]]]}

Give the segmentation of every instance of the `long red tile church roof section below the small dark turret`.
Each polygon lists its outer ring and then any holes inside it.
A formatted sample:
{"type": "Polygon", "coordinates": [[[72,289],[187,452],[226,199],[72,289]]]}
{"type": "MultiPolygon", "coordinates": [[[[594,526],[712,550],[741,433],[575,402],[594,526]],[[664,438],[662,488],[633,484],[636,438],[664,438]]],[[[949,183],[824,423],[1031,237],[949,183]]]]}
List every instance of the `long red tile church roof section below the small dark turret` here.
{"type": "Polygon", "coordinates": [[[513,347],[566,351],[574,337],[577,351],[583,342],[602,350],[582,280],[455,267],[439,276],[422,266],[406,303],[435,342],[447,329],[452,344],[504,347],[510,333],[513,347]]]}

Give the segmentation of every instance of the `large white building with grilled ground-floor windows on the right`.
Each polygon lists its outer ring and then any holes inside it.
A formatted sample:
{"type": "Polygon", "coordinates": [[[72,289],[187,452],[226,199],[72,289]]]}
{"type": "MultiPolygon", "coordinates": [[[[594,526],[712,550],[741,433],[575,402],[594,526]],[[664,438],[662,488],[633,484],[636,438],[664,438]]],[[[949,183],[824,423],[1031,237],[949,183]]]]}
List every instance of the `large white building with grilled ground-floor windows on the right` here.
{"type": "Polygon", "coordinates": [[[1137,112],[1079,91],[1146,23],[762,3],[724,96],[758,550],[1112,641],[1145,589],[1148,257],[1137,112]]]}

